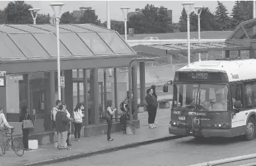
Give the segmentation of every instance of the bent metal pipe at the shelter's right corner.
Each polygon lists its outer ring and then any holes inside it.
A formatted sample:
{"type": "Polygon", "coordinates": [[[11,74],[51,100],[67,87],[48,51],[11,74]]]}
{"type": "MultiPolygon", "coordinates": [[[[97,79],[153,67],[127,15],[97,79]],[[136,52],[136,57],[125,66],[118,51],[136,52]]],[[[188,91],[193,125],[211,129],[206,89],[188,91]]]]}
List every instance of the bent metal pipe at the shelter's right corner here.
{"type": "MultiPolygon", "coordinates": [[[[129,108],[130,108],[130,120],[132,120],[132,63],[134,61],[137,62],[145,62],[145,61],[167,61],[167,57],[153,57],[153,58],[134,58],[130,61],[128,66],[128,74],[129,74],[129,108]]],[[[137,71],[136,71],[137,72],[137,71]]],[[[135,78],[137,79],[137,78],[135,78]]],[[[137,95],[137,94],[136,94],[137,95]]],[[[136,108],[137,109],[137,108],[136,108]]]]}

